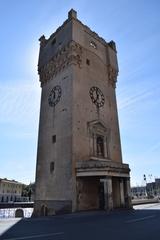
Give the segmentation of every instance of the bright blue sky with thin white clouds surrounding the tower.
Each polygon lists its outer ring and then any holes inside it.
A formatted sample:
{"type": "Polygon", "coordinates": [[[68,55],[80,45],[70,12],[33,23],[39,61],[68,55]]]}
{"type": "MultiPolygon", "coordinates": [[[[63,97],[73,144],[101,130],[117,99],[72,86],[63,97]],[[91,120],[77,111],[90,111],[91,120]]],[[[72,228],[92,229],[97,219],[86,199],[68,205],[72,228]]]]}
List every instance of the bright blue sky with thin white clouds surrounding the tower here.
{"type": "Polygon", "coordinates": [[[35,178],[41,35],[74,8],[78,18],[117,44],[117,101],[123,161],[132,185],[160,177],[160,1],[1,0],[0,177],[35,178]],[[152,179],[149,177],[152,174],[152,179]]]}

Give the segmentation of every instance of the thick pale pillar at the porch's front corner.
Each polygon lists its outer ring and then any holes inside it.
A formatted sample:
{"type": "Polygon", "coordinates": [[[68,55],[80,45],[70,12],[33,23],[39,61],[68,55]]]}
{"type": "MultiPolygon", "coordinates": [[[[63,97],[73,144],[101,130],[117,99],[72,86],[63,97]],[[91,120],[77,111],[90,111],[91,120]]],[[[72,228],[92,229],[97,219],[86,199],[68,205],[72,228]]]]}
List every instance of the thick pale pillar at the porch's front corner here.
{"type": "Polygon", "coordinates": [[[104,200],[105,200],[105,209],[113,209],[113,196],[112,196],[112,178],[106,177],[104,179],[104,200]]]}

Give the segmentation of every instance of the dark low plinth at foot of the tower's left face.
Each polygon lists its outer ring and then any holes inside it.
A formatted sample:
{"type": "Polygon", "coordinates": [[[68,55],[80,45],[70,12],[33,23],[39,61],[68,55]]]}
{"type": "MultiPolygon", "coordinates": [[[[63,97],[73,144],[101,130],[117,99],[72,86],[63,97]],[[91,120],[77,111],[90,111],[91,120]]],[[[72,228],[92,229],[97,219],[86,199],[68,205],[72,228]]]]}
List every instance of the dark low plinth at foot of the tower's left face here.
{"type": "Polygon", "coordinates": [[[35,200],[33,217],[53,216],[72,212],[70,200],[35,200]]]}

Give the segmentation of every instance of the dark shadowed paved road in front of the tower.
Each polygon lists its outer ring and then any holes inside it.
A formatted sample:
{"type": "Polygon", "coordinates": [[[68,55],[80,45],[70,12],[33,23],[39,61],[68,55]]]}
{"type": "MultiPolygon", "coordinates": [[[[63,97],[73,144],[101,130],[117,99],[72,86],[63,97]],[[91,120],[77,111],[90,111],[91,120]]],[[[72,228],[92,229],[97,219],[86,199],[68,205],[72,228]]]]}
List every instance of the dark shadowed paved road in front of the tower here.
{"type": "Polygon", "coordinates": [[[134,210],[83,212],[0,221],[3,240],[152,240],[160,239],[160,204],[134,210]]]}

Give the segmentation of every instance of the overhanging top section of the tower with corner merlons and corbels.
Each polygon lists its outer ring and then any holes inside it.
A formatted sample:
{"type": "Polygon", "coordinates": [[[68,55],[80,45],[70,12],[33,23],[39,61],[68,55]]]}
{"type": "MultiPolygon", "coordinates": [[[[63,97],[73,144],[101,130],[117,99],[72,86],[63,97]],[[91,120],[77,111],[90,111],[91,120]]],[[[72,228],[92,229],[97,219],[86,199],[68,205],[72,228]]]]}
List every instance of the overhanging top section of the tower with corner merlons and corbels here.
{"type": "Polygon", "coordinates": [[[90,28],[77,19],[75,10],[69,11],[68,19],[48,40],[45,39],[44,35],[39,40],[38,72],[42,84],[70,64],[70,54],[73,54],[72,58],[81,67],[85,64],[87,55],[94,54],[103,62],[106,72],[109,74],[109,81],[115,86],[118,75],[115,42],[110,41],[107,43],[97,33],[91,31],[90,28]]]}

